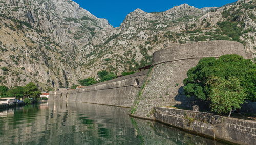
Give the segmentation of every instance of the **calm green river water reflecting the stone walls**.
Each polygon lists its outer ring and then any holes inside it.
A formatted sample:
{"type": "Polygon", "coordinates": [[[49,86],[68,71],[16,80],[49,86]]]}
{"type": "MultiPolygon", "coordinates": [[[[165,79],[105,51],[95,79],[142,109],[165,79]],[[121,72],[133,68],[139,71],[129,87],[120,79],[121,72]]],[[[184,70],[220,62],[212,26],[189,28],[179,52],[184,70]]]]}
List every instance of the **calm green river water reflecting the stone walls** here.
{"type": "Polygon", "coordinates": [[[0,110],[0,144],[223,144],[128,113],[77,102],[0,110]]]}

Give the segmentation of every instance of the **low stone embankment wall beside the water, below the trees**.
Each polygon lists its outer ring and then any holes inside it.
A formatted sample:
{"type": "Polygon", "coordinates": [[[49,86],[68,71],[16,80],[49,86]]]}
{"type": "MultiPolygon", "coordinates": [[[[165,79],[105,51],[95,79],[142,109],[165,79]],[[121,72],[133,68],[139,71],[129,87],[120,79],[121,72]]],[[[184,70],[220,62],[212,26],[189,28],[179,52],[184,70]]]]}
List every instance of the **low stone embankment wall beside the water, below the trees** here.
{"type": "Polygon", "coordinates": [[[256,122],[210,113],[154,107],[155,120],[187,131],[238,144],[255,144],[256,122]]]}

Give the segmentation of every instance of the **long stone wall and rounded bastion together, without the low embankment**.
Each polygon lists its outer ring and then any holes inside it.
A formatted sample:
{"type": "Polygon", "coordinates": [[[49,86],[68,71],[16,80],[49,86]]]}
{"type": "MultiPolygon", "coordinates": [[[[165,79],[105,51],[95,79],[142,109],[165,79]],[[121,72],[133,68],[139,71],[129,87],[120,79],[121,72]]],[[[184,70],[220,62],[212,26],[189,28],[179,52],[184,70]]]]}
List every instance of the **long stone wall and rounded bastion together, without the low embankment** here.
{"type": "Polygon", "coordinates": [[[191,107],[194,99],[183,95],[182,89],[188,69],[196,66],[201,58],[218,58],[225,54],[246,58],[244,46],[239,42],[216,40],[181,44],[156,51],[150,70],[77,90],[51,91],[49,100],[132,107],[133,116],[153,119],[153,107],[191,107]]]}

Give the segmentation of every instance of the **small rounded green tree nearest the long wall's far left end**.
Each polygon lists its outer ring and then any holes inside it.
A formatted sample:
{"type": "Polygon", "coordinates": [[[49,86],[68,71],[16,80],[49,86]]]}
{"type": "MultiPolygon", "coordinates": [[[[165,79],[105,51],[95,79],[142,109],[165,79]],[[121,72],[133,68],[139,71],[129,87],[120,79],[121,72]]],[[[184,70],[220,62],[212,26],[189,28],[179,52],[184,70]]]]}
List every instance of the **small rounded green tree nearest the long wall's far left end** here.
{"type": "Polygon", "coordinates": [[[30,82],[26,86],[24,86],[24,96],[36,100],[40,95],[41,92],[34,83],[30,82]]]}

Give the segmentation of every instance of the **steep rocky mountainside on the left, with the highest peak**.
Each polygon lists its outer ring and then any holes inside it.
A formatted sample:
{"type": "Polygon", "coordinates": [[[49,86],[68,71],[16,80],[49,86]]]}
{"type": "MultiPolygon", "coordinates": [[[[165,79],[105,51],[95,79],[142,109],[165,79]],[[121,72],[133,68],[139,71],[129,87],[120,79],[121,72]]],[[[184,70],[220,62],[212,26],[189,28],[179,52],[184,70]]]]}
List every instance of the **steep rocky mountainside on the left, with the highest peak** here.
{"type": "Polygon", "coordinates": [[[81,46],[103,28],[112,28],[73,1],[0,2],[1,84],[68,86],[81,46]]]}

